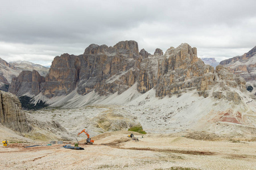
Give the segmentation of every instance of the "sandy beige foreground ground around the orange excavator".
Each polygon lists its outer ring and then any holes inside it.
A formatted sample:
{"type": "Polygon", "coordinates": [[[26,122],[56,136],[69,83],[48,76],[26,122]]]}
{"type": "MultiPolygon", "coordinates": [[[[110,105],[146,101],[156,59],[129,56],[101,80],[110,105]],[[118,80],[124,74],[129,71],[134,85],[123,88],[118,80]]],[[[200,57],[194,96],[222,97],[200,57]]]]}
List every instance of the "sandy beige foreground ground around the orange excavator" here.
{"type": "Polygon", "coordinates": [[[80,141],[84,150],[63,148],[66,143],[9,143],[0,147],[1,169],[256,169],[255,141],[134,133],[135,142],[127,134],[101,134],[93,145],[80,141]],[[24,148],[31,145],[40,146],[24,148]]]}

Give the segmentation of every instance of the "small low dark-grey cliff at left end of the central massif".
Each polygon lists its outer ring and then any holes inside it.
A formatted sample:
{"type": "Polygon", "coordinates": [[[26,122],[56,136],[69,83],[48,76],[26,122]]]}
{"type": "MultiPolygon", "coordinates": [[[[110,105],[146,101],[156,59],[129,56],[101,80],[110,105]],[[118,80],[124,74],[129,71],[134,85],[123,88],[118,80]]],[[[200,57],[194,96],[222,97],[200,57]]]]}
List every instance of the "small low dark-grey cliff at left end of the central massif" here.
{"type": "Polygon", "coordinates": [[[22,71],[18,77],[13,78],[9,92],[17,96],[36,96],[42,91],[45,81],[36,70],[22,71]]]}

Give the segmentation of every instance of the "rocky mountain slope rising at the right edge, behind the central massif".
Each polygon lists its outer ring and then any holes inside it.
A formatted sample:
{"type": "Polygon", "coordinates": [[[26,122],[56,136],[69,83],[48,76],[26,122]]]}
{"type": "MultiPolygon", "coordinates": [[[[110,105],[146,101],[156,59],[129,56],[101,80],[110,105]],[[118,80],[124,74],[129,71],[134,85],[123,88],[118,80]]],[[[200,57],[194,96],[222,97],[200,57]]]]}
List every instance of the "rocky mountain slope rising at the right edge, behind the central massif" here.
{"type": "Polygon", "coordinates": [[[242,56],[226,59],[220,64],[242,76],[246,80],[247,89],[256,95],[256,46],[242,56]]]}

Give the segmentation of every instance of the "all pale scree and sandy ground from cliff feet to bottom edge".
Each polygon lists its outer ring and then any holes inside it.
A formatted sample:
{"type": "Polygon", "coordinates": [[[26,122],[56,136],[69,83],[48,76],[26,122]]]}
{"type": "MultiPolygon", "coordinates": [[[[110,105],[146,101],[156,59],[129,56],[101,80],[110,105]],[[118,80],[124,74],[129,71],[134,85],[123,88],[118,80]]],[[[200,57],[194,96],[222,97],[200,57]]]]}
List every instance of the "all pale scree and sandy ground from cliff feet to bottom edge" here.
{"type": "MultiPolygon", "coordinates": [[[[197,92],[159,99],[154,90],[143,95],[134,90],[98,99],[97,105],[92,102],[96,99],[90,99],[92,105],[79,108],[73,103],[73,109],[25,111],[36,133],[21,135],[0,128],[1,139],[10,141],[9,147],[0,147],[5,154],[0,158],[3,169],[255,169],[254,102],[241,108],[233,101],[199,97],[197,92]],[[221,112],[231,106],[242,115],[221,112]],[[59,128],[50,126],[51,121],[58,122],[59,128]],[[148,134],[122,130],[138,123],[148,134]],[[113,131],[118,127],[121,131],[113,131]],[[82,129],[93,145],[83,145],[85,134],[77,137],[82,129]],[[128,138],[130,133],[139,142],[128,138]],[[74,145],[76,138],[85,150],[61,148],[67,142],[74,145]],[[66,142],[45,146],[57,140],[66,142]],[[23,148],[31,145],[42,146],[23,148]]],[[[247,99],[243,96],[242,102],[247,99]]]]}

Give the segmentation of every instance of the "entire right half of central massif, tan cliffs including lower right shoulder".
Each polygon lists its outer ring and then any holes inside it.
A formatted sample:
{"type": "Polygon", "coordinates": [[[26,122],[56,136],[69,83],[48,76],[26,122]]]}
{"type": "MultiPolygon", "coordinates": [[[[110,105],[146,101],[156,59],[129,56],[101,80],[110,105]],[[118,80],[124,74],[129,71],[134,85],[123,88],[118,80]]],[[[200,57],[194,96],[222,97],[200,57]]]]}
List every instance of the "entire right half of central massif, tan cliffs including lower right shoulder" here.
{"type": "Polygon", "coordinates": [[[230,95],[229,92],[232,92],[231,88],[245,90],[245,80],[223,66],[216,67],[215,71],[214,67],[205,65],[197,58],[197,49],[185,43],[177,48],[171,47],[162,56],[155,53],[141,62],[138,80],[141,93],[155,88],[156,96],[164,97],[197,90],[199,95],[208,97],[216,95],[214,90],[210,92],[216,86],[225,91],[220,99],[239,103],[239,95],[236,92],[230,95]]]}

